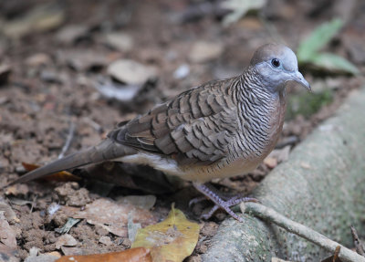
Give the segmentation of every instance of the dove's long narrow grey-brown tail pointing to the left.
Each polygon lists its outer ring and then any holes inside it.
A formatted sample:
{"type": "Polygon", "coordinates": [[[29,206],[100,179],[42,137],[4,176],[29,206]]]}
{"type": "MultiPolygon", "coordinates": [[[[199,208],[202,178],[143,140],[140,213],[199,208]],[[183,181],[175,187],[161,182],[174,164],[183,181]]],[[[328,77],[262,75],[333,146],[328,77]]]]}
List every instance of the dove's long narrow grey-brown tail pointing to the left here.
{"type": "Polygon", "coordinates": [[[89,163],[112,160],[121,157],[126,153],[127,152],[124,146],[115,144],[114,141],[110,141],[109,139],[107,139],[100,142],[97,146],[90,147],[89,149],[86,149],[84,151],[75,152],[62,159],[58,159],[54,162],[50,162],[44,166],[41,166],[36,170],[22,175],[21,177],[16,179],[16,181],[8,183],[8,185],[12,185],[15,183],[25,183],[48,174],[76,168],[79,166],[87,165],[89,163]]]}

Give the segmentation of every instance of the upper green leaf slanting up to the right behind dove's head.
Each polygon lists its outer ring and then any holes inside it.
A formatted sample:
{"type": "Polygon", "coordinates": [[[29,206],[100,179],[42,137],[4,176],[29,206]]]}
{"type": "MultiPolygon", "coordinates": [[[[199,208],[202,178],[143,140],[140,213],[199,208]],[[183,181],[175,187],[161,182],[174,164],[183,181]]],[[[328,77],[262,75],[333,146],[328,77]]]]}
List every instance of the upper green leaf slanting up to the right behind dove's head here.
{"type": "Polygon", "coordinates": [[[297,49],[297,59],[299,63],[310,61],[319,49],[325,47],[328,42],[339,32],[343,26],[343,21],[334,18],[331,21],[318,26],[297,49]]]}

